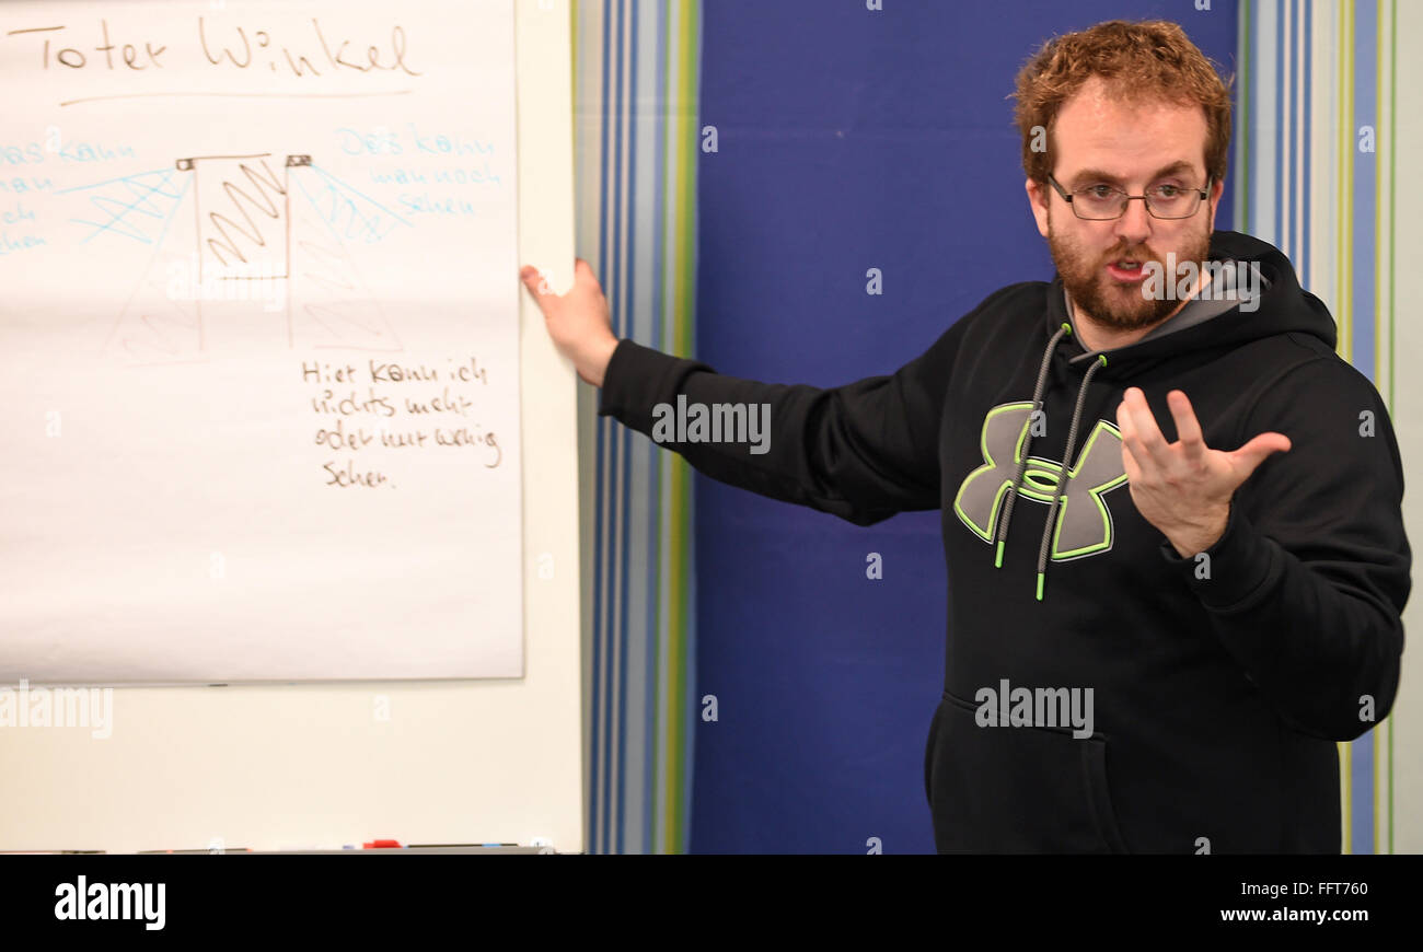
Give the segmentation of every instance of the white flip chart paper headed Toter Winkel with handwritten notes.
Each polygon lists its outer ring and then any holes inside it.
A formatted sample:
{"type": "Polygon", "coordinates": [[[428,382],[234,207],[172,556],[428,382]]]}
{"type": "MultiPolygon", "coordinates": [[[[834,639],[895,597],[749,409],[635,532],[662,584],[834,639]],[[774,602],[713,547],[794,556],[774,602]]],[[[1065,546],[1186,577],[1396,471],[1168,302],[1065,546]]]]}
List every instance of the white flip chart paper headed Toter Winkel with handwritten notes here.
{"type": "Polygon", "coordinates": [[[521,676],[511,3],[6,3],[0,90],[0,680],[521,676]]]}

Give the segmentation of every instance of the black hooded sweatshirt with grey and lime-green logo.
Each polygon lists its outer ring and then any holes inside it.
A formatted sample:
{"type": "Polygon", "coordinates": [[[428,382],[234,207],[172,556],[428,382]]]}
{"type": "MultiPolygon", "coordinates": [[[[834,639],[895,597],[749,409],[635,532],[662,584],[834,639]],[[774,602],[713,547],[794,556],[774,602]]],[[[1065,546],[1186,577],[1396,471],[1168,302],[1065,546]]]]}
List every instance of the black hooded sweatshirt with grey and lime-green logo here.
{"type": "Polygon", "coordinates": [[[942,509],[945,692],[924,764],[941,852],[1339,851],[1335,741],[1380,721],[1399,682],[1403,467],[1289,260],[1234,232],[1210,258],[1258,266],[1258,309],[1106,361],[1070,332],[1060,279],[1003,287],[896,373],[835,388],[630,340],[613,353],[599,414],[640,433],[679,397],[768,406],[764,453],[662,440],[709,477],[857,525],[942,509]],[[1128,386],[1170,441],[1173,388],[1212,448],[1291,438],[1235,492],[1208,558],[1180,558],[1133,504],[1128,386]]]}

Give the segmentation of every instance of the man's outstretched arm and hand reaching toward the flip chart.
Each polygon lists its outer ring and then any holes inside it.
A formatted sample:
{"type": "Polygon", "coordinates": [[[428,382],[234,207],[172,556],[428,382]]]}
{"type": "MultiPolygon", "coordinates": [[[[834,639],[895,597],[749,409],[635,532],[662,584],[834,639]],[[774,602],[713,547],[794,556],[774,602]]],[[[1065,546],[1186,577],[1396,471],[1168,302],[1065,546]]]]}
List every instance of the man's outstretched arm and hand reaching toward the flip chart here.
{"type": "Polygon", "coordinates": [[[579,377],[603,388],[601,416],[676,450],[721,482],[857,525],[939,507],[939,421],[963,322],[889,376],[834,388],[768,384],[619,342],[582,259],[573,287],[562,296],[546,287],[541,293],[538,273],[529,272],[521,276],[554,343],[579,377]],[[686,410],[679,410],[679,398],[686,410]],[[680,424],[693,407],[704,408],[699,413],[707,420],[716,414],[720,423],[744,421],[730,435],[747,438],[727,441],[726,433],[717,443],[684,438],[680,424]]]}

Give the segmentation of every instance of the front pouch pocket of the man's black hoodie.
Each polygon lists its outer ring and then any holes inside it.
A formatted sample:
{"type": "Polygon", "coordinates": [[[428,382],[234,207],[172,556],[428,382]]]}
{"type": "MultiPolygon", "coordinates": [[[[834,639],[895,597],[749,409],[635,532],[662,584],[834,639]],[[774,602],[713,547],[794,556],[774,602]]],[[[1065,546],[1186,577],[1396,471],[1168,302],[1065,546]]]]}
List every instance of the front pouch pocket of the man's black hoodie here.
{"type": "Polygon", "coordinates": [[[1107,740],[1070,727],[980,727],[945,693],[925,787],[939,852],[1127,852],[1107,786],[1107,740]]]}

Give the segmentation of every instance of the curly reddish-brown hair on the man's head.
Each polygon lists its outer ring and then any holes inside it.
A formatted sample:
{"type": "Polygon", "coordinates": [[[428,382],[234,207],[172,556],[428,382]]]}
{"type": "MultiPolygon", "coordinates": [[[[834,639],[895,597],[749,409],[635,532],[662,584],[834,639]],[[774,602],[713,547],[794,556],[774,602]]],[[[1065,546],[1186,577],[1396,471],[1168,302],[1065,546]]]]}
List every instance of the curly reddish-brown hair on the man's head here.
{"type": "Polygon", "coordinates": [[[1053,124],[1057,112],[1091,77],[1101,77],[1111,95],[1130,94],[1205,110],[1205,171],[1225,179],[1231,149],[1231,94],[1235,77],[1221,80],[1211,60],[1175,23],[1107,20],[1047,40],[1017,73],[1013,120],[1023,135],[1023,171],[1039,184],[1053,169],[1053,124]],[[1046,151],[1033,149],[1033,129],[1046,131],[1046,151]]]}

